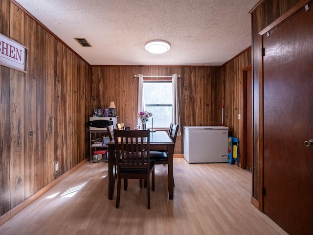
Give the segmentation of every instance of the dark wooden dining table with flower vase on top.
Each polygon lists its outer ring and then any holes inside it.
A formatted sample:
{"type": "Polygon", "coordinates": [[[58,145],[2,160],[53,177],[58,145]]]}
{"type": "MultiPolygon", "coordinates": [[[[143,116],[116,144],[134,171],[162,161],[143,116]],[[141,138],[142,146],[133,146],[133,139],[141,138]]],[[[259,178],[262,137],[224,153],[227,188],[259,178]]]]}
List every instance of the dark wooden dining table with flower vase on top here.
{"type": "MultiPolygon", "coordinates": [[[[115,176],[114,176],[114,159],[115,159],[115,142],[114,140],[107,143],[109,150],[108,159],[108,175],[109,175],[109,199],[113,199],[114,187],[115,187],[115,176]]],[[[167,186],[169,199],[173,199],[174,194],[174,179],[173,179],[173,155],[174,155],[175,143],[169,137],[166,131],[150,131],[150,151],[166,150],[168,157],[168,176],[167,186]]],[[[116,173],[116,172],[115,172],[116,173]]]]}

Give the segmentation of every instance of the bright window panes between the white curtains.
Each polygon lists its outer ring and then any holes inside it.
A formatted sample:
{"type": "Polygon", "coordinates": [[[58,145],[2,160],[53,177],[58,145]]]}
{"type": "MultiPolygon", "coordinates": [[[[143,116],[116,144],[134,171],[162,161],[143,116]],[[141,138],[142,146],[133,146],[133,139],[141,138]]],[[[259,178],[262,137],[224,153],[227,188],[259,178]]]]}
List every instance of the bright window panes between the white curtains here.
{"type": "MultiPolygon", "coordinates": [[[[152,113],[153,128],[168,128],[173,122],[172,81],[143,81],[145,110],[152,113]]],[[[152,128],[152,118],[147,128],[152,128]]]]}

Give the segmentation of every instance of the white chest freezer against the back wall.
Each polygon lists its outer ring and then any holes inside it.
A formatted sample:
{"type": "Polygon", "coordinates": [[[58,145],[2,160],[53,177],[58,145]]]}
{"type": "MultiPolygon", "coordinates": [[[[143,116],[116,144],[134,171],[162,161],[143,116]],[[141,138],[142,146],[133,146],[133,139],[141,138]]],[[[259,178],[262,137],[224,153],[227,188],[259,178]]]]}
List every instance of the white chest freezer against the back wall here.
{"type": "Polygon", "coordinates": [[[184,126],[184,158],[188,163],[227,163],[228,127],[184,126]]]}

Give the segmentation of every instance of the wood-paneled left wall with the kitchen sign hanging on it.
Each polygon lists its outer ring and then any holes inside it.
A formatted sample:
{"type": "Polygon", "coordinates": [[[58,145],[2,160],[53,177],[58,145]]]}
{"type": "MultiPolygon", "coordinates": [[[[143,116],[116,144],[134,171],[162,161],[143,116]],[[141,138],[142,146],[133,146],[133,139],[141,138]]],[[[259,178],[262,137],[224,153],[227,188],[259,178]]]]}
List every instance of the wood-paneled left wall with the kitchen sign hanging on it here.
{"type": "Polygon", "coordinates": [[[14,3],[0,3],[0,32],[28,47],[27,73],[0,66],[3,215],[86,158],[90,67],[14,3]]]}

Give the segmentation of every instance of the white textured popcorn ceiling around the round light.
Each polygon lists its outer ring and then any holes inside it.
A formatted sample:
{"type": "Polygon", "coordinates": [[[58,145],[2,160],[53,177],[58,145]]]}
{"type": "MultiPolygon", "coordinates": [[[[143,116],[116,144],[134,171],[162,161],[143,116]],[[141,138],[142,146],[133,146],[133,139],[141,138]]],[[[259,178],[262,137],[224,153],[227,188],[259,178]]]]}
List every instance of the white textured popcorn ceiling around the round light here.
{"type": "Polygon", "coordinates": [[[90,65],[223,65],[251,46],[248,12],[259,0],[15,1],[90,65]],[[171,49],[146,51],[156,39],[171,49]]]}

